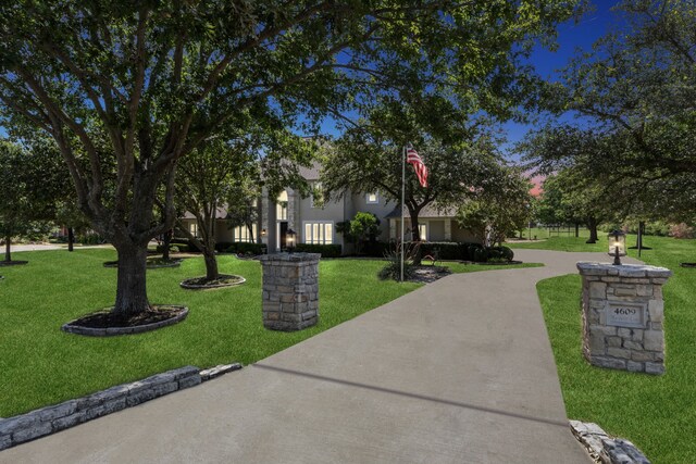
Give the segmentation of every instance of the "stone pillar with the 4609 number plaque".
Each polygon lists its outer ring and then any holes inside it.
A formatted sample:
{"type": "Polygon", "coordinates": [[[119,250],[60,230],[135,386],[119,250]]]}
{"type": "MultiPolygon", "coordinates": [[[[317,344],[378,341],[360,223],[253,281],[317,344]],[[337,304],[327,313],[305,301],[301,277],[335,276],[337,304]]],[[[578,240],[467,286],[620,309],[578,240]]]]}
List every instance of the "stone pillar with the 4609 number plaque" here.
{"type": "Polygon", "coordinates": [[[664,373],[662,285],[670,269],[580,262],[583,354],[601,367],[664,373]]]}

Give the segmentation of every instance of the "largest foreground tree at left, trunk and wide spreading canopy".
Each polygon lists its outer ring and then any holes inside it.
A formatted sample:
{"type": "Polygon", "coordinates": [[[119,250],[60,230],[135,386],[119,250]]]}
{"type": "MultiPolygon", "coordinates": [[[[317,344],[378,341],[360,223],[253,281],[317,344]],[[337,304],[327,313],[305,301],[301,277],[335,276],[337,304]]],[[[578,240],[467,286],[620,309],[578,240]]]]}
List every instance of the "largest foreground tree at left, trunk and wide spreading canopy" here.
{"type": "Polygon", "coordinates": [[[240,114],[312,128],[401,89],[505,117],[501,97],[523,95],[520,59],[575,3],[4,2],[3,124],[55,140],[80,209],[119,251],[114,311],[134,314],[150,308],[146,247],[175,220],[178,160],[240,114]]]}

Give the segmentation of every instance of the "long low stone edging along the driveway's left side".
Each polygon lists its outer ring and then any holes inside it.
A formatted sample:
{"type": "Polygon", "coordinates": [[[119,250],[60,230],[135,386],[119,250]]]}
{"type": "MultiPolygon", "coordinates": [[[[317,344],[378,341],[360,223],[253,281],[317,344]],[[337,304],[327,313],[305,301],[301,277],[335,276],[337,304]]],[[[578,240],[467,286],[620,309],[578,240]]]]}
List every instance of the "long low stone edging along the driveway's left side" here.
{"type": "Polygon", "coordinates": [[[196,366],[181,367],[142,380],[122,384],[76,400],[65,401],[14,417],[0,418],[0,450],[55,434],[184,388],[194,387],[201,381],[240,368],[241,364],[238,363],[219,365],[202,371],[196,366]]]}

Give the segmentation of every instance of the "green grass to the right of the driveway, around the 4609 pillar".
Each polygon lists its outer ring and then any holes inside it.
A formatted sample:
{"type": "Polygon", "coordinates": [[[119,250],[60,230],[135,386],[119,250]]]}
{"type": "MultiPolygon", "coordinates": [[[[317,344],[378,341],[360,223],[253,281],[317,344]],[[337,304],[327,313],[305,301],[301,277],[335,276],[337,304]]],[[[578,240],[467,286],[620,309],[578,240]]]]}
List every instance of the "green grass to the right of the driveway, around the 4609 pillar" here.
{"type": "MultiPolygon", "coordinates": [[[[627,242],[634,240],[630,237],[627,242]]],[[[696,242],[645,237],[644,243],[652,250],[643,251],[643,261],[674,272],[663,288],[667,343],[663,376],[604,369],[584,361],[580,276],[540,281],[539,299],[568,416],[595,422],[609,434],[627,438],[656,464],[693,463],[696,462],[696,269],[679,264],[696,261],[696,242]]],[[[554,238],[539,244],[544,249],[604,251],[606,238],[596,246],[586,246],[583,239],[574,238],[554,238]]],[[[629,254],[635,256],[636,250],[629,250],[629,254]]]]}

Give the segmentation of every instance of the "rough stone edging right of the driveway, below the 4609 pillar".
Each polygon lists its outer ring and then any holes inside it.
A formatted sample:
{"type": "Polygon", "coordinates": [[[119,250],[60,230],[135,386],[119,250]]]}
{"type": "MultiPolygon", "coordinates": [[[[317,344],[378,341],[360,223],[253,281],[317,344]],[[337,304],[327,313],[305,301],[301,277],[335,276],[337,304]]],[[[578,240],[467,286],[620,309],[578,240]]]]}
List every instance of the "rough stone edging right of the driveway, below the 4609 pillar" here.
{"type": "Polygon", "coordinates": [[[570,428],[596,463],[650,464],[635,444],[621,438],[610,438],[597,424],[570,421],[570,428]]]}

